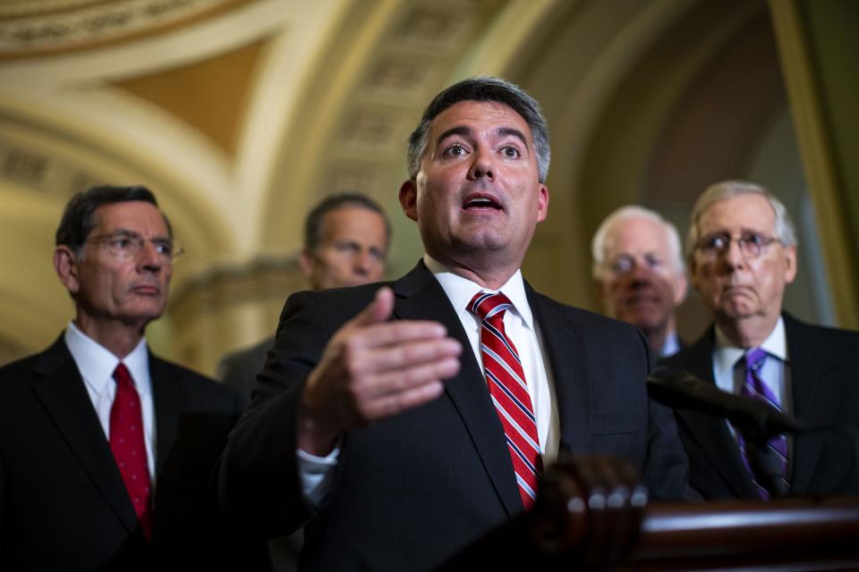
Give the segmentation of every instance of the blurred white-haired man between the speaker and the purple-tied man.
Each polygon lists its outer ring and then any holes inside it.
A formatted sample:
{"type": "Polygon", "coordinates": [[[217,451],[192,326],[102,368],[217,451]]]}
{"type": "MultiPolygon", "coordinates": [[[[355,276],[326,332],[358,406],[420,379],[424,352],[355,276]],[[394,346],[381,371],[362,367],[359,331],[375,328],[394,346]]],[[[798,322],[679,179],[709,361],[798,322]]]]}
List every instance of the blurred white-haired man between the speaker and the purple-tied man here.
{"type": "Polygon", "coordinates": [[[639,328],[659,356],[679,351],[674,310],[687,282],[675,226],[642,206],[621,206],[594,233],[591,254],[606,314],[639,328]]]}

